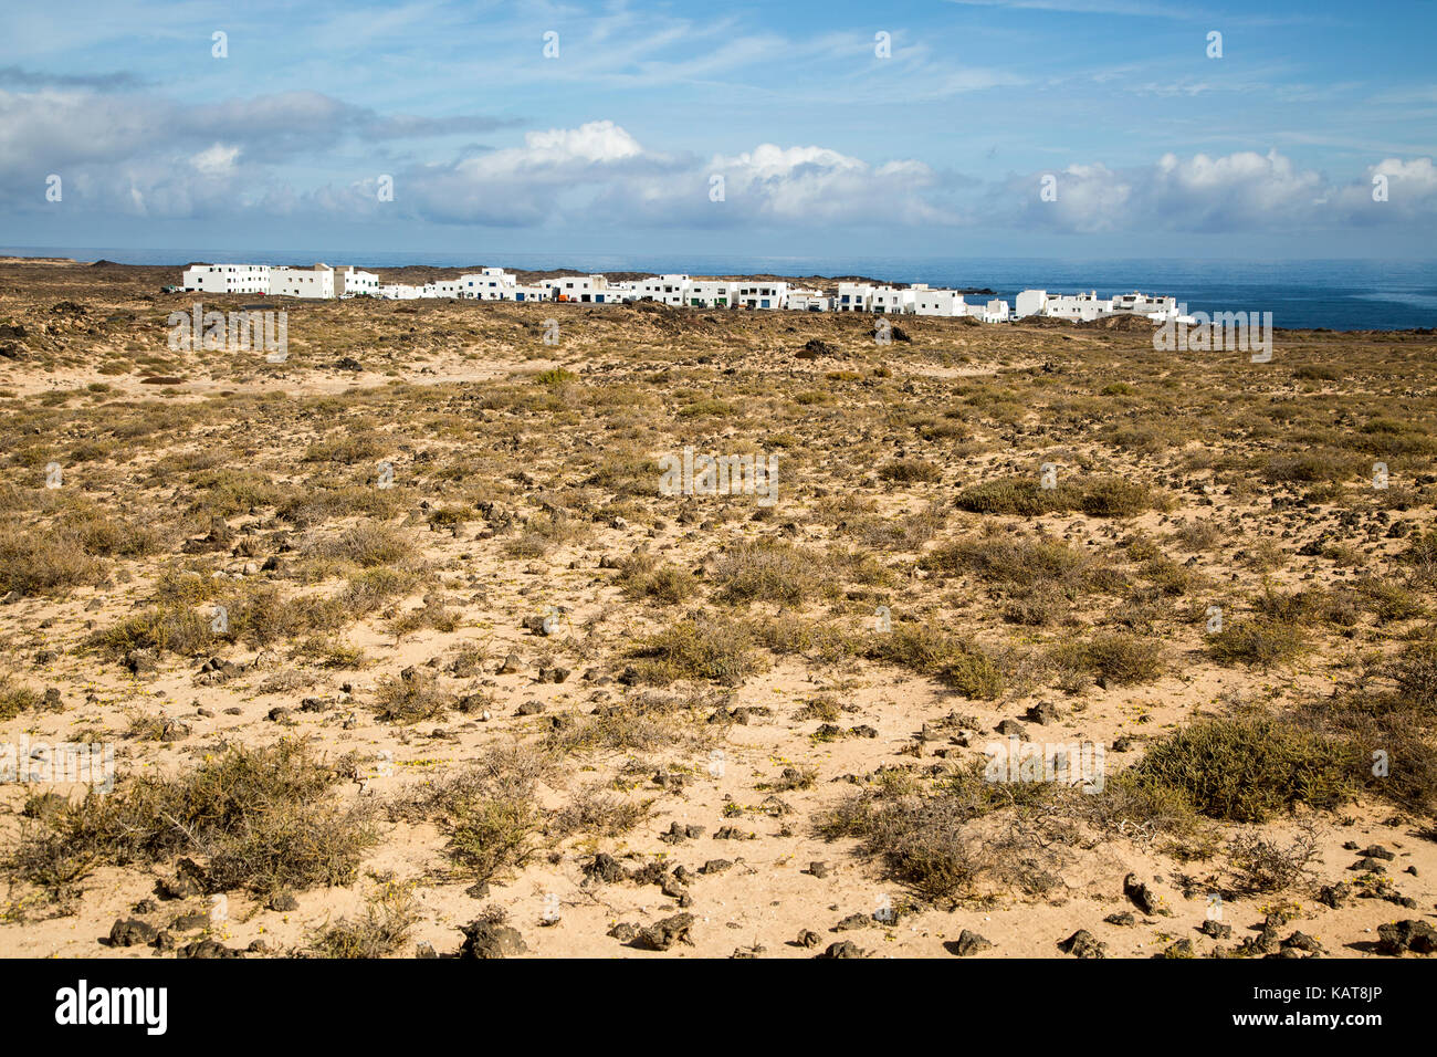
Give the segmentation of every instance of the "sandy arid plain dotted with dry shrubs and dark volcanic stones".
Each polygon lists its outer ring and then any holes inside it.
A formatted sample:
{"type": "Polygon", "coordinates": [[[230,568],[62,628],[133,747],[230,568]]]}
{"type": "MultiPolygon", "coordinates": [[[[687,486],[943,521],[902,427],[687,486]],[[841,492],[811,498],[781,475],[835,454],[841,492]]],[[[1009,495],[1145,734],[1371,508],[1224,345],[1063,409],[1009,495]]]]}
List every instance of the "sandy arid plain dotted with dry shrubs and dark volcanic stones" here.
{"type": "Polygon", "coordinates": [[[177,275],[0,265],[0,953],[1437,949],[1433,334],[177,275]]]}

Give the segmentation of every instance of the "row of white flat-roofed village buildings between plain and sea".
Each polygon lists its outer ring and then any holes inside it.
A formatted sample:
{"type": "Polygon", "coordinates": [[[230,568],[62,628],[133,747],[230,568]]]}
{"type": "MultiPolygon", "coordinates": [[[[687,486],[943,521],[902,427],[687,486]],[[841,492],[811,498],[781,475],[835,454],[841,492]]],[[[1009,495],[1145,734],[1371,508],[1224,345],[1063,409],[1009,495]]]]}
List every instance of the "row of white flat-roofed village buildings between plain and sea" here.
{"type": "Polygon", "coordinates": [[[1178,318],[1175,298],[1122,293],[1099,298],[1096,290],[1049,293],[1022,290],[1010,306],[1003,298],[969,303],[963,292],[925,283],[882,285],[841,282],[836,289],[803,289],[770,279],[704,279],[688,275],[652,275],[631,282],[609,282],[604,275],[566,275],[522,283],[503,267],[441,279],[421,286],[385,283],[374,272],[356,267],[280,267],[270,265],[193,265],[184,269],[182,288],[191,293],[260,293],[269,296],[328,299],[379,298],[385,301],[513,301],[622,305],[651,301],[674,308],[754,309],[795,312],[871,312],[877,315],[967,316],[981,324],[1003,324],[1027,316],[1089,322],[1102,316],[1144,316],[1155,324],[1178,318]]]}

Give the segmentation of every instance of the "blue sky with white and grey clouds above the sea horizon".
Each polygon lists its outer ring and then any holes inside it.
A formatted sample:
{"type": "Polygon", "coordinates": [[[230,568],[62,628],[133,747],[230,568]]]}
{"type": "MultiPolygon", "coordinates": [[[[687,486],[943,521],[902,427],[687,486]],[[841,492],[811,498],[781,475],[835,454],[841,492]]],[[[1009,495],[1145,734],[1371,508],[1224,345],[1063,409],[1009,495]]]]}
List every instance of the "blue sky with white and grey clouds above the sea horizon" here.
{"type": "Polygon", "coordinates": [[[7,7],[0,246],[1437,257],[1430,0],[7,7]]]}

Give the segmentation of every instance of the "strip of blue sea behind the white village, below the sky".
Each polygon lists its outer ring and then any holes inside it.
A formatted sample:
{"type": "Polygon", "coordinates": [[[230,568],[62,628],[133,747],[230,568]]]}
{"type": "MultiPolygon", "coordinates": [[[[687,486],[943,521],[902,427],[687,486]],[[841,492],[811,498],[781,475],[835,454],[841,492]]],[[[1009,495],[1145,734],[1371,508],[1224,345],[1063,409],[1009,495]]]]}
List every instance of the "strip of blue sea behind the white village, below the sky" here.
{"type": "MultiPolygon", "coordinates": [[[[583,272],[687,272],[690,275],[862,275],[888,282],[992,289],[1012,302],[1027,288],[1050,293],[1096,290],[1171,295],[1190,312],[1272,312],[1275,326],[1334,331],[1391,331],[1437,326],[1437,260],[1053,260],[1042,257],[734,257],[410,253],[394,250],[126,250],[106,247],[0,247],[11,256],[65,256],[124,265],[254,262],[272,265],[356,265],[371,269],[506,267],[583,272]]],[[[178,280],[178,272],[175,279],[178,280]]],[[[979,296],[969,296],[970,302],[979,296]]]]}

